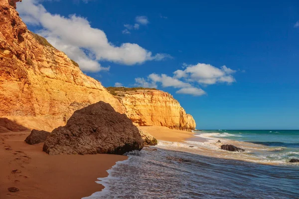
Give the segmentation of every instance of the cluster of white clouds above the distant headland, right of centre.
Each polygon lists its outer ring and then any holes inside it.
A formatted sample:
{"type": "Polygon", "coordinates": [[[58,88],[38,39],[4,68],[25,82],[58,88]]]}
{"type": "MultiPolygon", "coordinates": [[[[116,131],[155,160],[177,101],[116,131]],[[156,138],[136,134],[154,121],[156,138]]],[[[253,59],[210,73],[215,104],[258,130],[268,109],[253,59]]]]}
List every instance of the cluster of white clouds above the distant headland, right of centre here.
{"type": "Polygon", "coordinates": [[[173,76],[166,74],[151,73],[147,78],[136,78],[136,85],[156,88],[161,85],[163,88],[177,88],[176,93],[188,94],[193,96],[205,95],[206,92],[200,85],[211,85],[216,83],[235,82],[232,76],[236,71],[226,66],[217,68],[210,64],[198,63],[196,65],[183,64],[184,70],[176,70],[173,76]]]}

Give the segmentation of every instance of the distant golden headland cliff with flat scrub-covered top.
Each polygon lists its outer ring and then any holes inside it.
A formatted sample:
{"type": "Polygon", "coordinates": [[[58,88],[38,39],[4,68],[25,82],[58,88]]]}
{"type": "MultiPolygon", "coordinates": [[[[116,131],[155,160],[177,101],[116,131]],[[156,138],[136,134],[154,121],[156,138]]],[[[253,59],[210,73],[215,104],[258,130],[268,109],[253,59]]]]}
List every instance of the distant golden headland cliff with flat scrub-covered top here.
{"type": "Polygon", "coordinates": [[[107,88],[126,107],[127,116],[136,126],[165,126],[170,129],[193,130],[193,117],[186,114],[169,93],[144,88],[107,88]]]}

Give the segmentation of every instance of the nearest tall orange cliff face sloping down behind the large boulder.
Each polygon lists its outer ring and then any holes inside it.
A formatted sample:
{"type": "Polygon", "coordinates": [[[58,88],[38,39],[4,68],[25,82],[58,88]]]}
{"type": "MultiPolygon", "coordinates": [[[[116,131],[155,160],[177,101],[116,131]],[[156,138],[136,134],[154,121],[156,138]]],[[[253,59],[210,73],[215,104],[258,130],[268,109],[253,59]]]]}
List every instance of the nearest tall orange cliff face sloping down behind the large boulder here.
{"type": "Polygon", "coordinates": [[[16,1],[0,0],[0,117],[66,121],[75,110],[99,101],[125,113],[100,82],[27,29],[16,1]]]}

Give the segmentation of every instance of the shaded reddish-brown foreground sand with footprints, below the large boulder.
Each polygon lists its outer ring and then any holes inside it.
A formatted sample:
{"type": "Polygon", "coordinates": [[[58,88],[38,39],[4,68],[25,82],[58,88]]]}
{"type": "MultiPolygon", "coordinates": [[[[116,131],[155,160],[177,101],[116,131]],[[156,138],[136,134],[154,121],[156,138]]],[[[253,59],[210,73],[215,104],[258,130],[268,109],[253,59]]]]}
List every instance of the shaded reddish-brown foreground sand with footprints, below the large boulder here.
{"type": "Polygon", "coordinates": [[[81,199],[101,191],[97,178],[126,156],[49,156],[43,143],[24,142],[30,131],[0,133],[0,199],[81,199]],[[12,173],[13,170],[17,170],[12,173]],[[18,192],[10,193],[8,188],[18,192]]]}

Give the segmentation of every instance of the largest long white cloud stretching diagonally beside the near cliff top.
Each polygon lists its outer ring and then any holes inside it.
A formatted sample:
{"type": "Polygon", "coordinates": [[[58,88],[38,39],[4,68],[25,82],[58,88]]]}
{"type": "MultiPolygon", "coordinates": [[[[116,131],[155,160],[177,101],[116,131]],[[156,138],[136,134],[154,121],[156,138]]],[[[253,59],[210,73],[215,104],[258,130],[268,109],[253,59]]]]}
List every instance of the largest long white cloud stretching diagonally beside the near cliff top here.
{"type": "MultiPolygon", "coordinates": [[[[149,60],[161,60],[168,56],[162,53],[153,55],[136,43],[123,43],[116,46],[108,41],[103,30],[91,27],[86,18],[75,14],[67,17],[51,14],[39,0],[26,0],[18,3],[17,7],[25,22],[41,27],[38,33],[78,62],[80,68],[85,71],[109,69],[102,67],[98,61],[134,65],[149,60]]],[[[140,21],[145,23],[143,19],[140,21]]]]}

